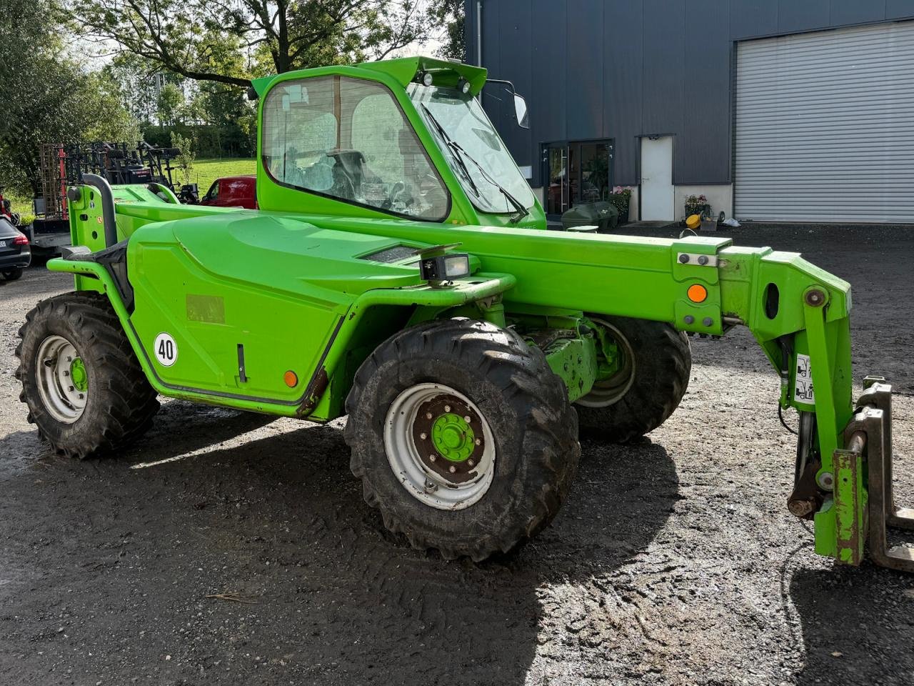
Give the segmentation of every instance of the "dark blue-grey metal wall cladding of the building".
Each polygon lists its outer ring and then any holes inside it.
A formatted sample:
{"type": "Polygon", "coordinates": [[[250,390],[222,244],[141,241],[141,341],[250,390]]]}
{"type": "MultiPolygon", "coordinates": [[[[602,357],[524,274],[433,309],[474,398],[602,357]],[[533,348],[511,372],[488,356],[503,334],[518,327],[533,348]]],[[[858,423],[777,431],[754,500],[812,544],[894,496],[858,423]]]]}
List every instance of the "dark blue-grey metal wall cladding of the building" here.
{"type": "MultiPolygon", "coordinates": [[[[476,55],[476,0],[467,0],[476,55]]],[[[615,181],[638,182],[638,136],[675,134],[676,184],[732,181],[734,41],[914,17],[914,0],[483,0],[483,66],[530,104],[486,110],[542,184],[540,145],[615,139],[615,181]]],[[[486,89],[488,91],[488,89],[486,89]]]]}

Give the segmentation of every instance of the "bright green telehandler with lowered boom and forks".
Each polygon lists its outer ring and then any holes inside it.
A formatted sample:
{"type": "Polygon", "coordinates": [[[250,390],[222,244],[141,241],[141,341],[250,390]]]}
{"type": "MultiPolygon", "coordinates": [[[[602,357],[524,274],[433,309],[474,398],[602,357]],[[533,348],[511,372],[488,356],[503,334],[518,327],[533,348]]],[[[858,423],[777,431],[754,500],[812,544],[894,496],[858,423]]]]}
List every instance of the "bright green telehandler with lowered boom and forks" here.
{"type": "MultiPolygon", "coordinates": [[[[390,59],[253,82],[260,209],[68,190],[75,291],[27,315],[28,419],[58,453],[136,440],[157,395],[327,422],[386,526],[446,558],[555,517],[579,428],[628,442],[682,399],[686,334],[749,327],[800,416],[790,512],[815,550],[914,571],[891,389],[852,400],[850,285],[769,248],[546,230],[476,96],[486,72],[390,59]]],[[[524,102],[515,96],[518,123],[524,102]]]]}

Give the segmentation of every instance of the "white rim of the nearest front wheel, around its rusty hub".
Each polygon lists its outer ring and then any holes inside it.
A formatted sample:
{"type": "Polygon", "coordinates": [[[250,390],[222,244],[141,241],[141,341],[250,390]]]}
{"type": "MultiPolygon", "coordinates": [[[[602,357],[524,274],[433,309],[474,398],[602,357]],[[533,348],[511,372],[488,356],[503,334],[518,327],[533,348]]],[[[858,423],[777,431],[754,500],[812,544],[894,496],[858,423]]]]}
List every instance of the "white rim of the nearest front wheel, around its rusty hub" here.
{"type": "MultiPolygon", "coordinates": [[[[437,417],[427,419],[435,422],[437,417]]],[[[420,434],[425,436],[426,434],[420,434]]],[[[420,440],[421,443],[421,440],[420,440]]],[[[384,423],[384,450],[388,456],[388,463],[400,484],[409,494],[426,505],[436,509],[464,509],[482,498],[489,487],[495,473],[495,440],[492,429],[480,412],[476,404],[463,395],[462,392],[445,386],[441,383],[420,383],[410,386],[402,391],[390,404],[387,418],[384,423]],[[470,413],[466,416],[472,418],[469,423],[473,426],[476,440],[480,441],[479,453],[470,460],[451,462],[442,457],[437,451],[427,447],[420,454],[415,432],[417,431],[417,416],[420,408],[429,407],[430,403],[445,402],[448,397],[457,398],[470,413]],[[441,400],[444,399],[444,400],[441,400]],[[477,425],[478,424],[478,425],[477,425]],[[476,432],[481,430],[482,435],[476,432]],[[430,456],[437,456],[435,465],[430,465],[430,456]],[[449,478],[446,469],[459,468],[455,477],[449,478]],[[442,474],[441,472],[444,471],[442,474]],[[452,478],[462,479],[455,482],[452,478]]]]}

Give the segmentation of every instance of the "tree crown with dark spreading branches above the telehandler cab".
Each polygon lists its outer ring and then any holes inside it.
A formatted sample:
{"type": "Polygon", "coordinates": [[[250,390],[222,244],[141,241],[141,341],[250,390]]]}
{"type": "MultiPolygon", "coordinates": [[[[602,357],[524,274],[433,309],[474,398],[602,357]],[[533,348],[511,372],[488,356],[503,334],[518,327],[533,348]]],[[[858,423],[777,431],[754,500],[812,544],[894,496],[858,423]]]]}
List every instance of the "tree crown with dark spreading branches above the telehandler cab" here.
{"type": "Polygon", "coordinates": [[[423,41],[427,0],[75,0],[90,37],[195,80],[246,86],[233,43],[263,73],[381,59],[423,41]],[[264,64],[268,61],[268,64],[264,64]]]}

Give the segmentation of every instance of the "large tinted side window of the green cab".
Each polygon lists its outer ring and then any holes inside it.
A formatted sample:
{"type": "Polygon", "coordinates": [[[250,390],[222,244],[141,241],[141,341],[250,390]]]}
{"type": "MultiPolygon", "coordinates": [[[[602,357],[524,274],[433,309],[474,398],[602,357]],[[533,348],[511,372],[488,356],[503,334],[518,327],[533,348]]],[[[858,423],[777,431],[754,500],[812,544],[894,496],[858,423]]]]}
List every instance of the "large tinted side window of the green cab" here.
{"type": "Polygon", "coordinates": [[[274,180],[420,220],[449,196],[388,89],[342,76],[284,82],[263,103],[263,165],[274,180]]]}

